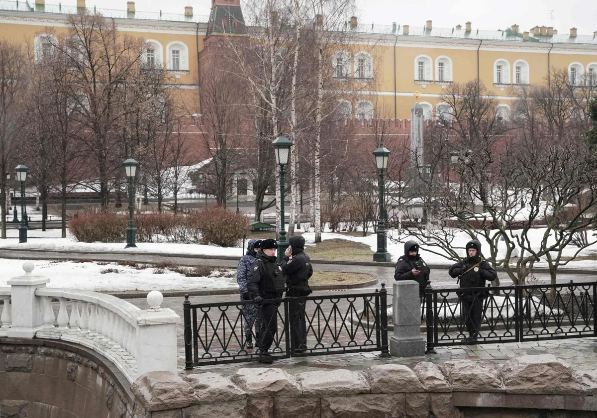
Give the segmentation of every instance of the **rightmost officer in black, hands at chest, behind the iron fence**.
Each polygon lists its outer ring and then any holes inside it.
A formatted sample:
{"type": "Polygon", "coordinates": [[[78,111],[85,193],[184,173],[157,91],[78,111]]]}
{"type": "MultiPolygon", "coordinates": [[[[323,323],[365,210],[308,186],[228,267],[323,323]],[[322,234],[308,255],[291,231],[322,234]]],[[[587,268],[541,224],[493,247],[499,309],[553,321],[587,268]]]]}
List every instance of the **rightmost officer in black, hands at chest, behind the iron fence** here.
{"type": "MultiPolygon", "coordinates": [[[[485,281],[494,281],[496,271],[491,268],[481,255],[481,242],[473,239],[466,244],[466,258],[450,267],[450,276],[458,278],[461,288],[485,287],[485,281]]],[[[462,301],[462,315],[466,317],[466,330],[469,337],[467,342],[475,343],[481,327],[483,316],[483,300],[487,296],[485,291],[459,291],[458,297],[462,301]]]]}

